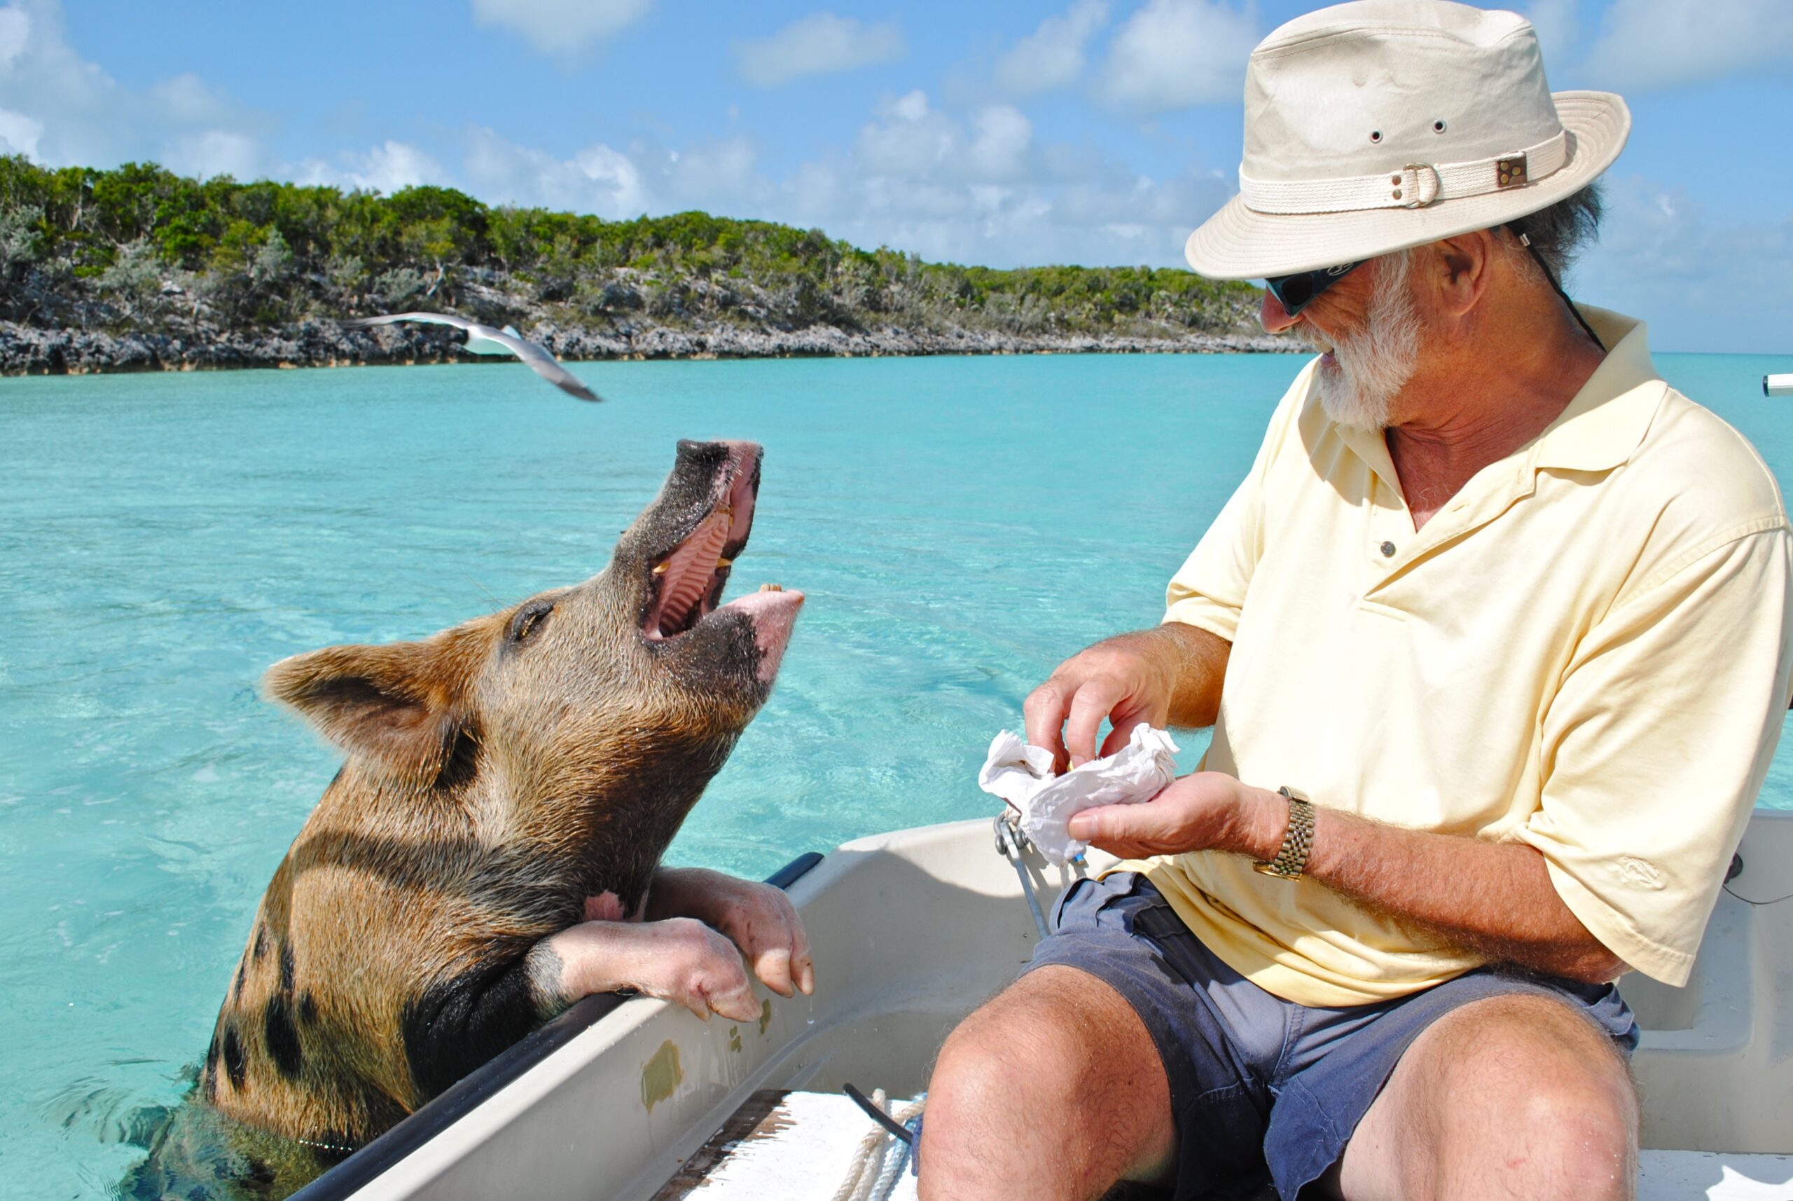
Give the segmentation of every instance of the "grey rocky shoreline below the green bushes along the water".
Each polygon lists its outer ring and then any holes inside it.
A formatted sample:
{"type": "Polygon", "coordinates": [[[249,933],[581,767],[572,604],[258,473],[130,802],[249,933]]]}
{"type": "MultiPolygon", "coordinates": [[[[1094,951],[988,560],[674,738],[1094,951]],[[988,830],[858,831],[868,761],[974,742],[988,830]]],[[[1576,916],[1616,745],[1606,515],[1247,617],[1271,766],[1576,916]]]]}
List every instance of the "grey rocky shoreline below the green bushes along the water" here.
{"type": "MultiPolygon", "coordinates": [[[[617,324],[611,330],[540,323],[524,335],[556,357],[602,359],[800,359],[877,355],[1137,355],[1300,351],[1287,337],[1183,333],[1006,333],[995,330],[843,330],[617,324]]],[[[0,321],[0,375],[93,375],[111,371],[204,371],[240,367],[339,367],[364,364],[468,362],[459,335],[439,326],[344,330],[303,321],[280,330],[194,333],[36,328],[0,321]]]]}

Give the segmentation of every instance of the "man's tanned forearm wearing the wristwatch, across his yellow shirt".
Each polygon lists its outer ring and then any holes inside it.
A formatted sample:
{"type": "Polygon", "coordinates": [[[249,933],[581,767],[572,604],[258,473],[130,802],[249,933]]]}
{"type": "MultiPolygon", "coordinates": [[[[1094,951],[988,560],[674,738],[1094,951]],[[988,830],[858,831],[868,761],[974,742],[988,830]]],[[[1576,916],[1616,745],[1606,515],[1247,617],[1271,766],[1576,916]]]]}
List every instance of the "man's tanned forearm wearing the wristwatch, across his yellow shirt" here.
{"type": "MultiPolygon", "coordinates": [[[[1273,859],[1287,801],[1264,789],[1248,796],[1253,817],[1228,850],[1273,859]]],[[[1556,894],[1544,855],[1520,842],[1384,826],[1316,805],[1304,875],[1492,959],[1587,982],[1624,972],[1556,894]]]]}

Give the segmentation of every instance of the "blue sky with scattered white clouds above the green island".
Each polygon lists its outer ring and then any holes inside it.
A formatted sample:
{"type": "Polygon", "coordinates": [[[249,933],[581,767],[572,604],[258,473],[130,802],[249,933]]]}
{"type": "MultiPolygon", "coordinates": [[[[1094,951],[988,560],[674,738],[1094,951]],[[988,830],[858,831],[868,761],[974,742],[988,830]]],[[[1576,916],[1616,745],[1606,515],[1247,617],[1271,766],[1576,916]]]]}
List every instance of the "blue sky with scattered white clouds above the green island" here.
{"type": "MultiPolygon", "coordinates": [[[[990,264],[1180,265],[1235,190],[1262,0],[13,0],[0,151],[990,264]]],[[[1793,0],[1537,0],[1551,84],[1632,104],[1572,290],[1662,350],[1793,351],[1793,0]]]]}

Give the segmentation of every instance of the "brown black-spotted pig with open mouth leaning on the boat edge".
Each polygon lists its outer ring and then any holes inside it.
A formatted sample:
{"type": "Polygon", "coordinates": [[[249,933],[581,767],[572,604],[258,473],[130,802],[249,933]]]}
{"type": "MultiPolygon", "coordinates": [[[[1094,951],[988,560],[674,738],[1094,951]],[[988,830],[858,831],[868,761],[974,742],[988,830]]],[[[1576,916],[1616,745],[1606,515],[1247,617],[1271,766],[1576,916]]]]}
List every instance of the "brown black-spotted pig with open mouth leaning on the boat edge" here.
{"type": "Polygon", "coordinates": [[[590,993],[749,1020],[749,966],[784,997],[814,989],[782,891],[660,866],[803,604],[776,586],[721,602],[760,457],[681,441],[583,584],[269,669],[267,696],[346,762],[262,896],[186,1111],[126,1196],[203,1196],[181,1187],[197,1176],[285,1196],[590,993]]]}

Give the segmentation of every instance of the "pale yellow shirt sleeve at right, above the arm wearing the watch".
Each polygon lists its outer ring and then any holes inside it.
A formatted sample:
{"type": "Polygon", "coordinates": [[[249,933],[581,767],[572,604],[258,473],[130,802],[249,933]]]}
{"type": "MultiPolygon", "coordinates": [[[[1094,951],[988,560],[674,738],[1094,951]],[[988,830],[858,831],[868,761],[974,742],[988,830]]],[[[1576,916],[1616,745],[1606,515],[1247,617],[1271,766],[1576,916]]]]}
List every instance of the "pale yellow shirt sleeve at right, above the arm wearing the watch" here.
{"type": "Polygon", "coordinates": [[[1612,954],[1687,982],[1788,713],[1793,538],[1732,531],[1583,636],[1515,832],[1612,954]]]}

